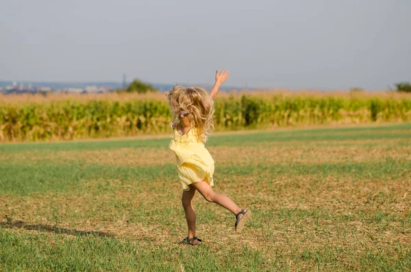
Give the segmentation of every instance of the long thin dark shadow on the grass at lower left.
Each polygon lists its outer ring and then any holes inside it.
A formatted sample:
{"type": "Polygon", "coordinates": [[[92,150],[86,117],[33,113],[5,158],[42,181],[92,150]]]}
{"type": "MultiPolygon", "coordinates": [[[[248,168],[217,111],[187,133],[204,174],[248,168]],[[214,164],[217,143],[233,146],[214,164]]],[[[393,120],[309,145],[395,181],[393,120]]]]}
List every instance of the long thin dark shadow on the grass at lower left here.
{"type": "Polygon", "coordinates": [[[114,234],[107,232],[93,232],[84,230],[69,230],[64,227],[53,227],[52,225],[43,224],[26,224],[23,221],[8,221],[0,222],[0,227],[5,229],[24,229],[24,230],[38,230],[39,232],[53,232],[55,234],[71,234],[77,236],[101,236],[101,237],[114,237],[114,234]]]}

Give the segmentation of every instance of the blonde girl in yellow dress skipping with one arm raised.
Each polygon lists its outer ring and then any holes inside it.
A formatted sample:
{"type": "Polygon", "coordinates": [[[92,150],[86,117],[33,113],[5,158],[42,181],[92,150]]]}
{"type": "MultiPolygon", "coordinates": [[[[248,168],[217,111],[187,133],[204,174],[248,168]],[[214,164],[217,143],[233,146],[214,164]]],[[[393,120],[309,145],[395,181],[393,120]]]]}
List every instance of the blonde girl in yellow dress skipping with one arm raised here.
{"type": "Polygon", "coordinates": [[[192,198],[197,191],[207,201],[217,203],[236,215],[237,233],[242,231],[245,221],[251,215],[250,210],[238,208],[229,197],[212,190],[214,160],[204,147],[208,134],[214,128],[213,100],[228,75],[229,72],[224,69],[221,73],[216,71],[216,82],[210,94],[198,87],[175,86],[167,95],[173,112],[173,134],[169,147],[177,158],[177,173],[183,186],[182,204],[188,226],[188,236],[180,243],[197,245],[201,242],[195,236],[195,210],[192,207],[192,198]]]}

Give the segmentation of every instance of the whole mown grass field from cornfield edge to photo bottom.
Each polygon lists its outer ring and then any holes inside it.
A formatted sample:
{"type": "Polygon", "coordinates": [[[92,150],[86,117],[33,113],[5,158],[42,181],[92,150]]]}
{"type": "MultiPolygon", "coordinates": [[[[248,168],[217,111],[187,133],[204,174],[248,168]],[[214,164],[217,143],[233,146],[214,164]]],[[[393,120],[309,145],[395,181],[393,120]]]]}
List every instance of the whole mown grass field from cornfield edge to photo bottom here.
{"type": "Polygon", "coordinates": [[[169,140],[0,145],[0,271],[411,270],[411,123],[211,136],[199,247],[169,140]]]}

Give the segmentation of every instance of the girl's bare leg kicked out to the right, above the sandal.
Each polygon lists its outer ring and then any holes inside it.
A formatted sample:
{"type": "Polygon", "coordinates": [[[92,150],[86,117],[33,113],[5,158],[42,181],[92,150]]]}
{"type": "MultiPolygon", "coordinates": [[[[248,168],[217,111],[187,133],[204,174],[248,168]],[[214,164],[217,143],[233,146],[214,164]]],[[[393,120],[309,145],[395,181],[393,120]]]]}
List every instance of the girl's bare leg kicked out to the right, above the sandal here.
{"type": "MultiPolygon", "coordinates": [[[[240,212],[241,209],[238,208],[238,206],[236,205],[236,203],[234,203],[234,201],[229,199],[227,195],[221,195],[219,193],[214,192],[214,190],[212,190],[210,184],[208,184],[206,180],[193,183],[190,185],[196,188],[207,201],[217,203],[220,206],[232,212],[233,214],[237,214],[238,212],[240,212]]],[[[242,216],[242,214],[240,215],[242,216]]]]}

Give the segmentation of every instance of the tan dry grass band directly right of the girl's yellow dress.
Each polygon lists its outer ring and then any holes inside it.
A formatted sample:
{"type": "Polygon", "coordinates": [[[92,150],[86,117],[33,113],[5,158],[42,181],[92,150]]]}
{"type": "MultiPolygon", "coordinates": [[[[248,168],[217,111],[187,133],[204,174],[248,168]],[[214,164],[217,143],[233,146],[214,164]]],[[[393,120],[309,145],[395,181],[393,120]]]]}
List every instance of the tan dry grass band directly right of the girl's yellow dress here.
{"type": "MultiPolygon", "coordinates": [[[[374,141],[373,143],[382,143],[374,141]]],[[[210,147],[208,148],[218,164],[245,163],[338,163],[338,162],[377,162],[392,158],[394,160],[411,160],[411,147],[387,145],[351,145],[341,141],[340,145],[319,145],[318,143],[295,143],[295,145],[259,145],[253,147],[210,147]],[[344,145],[345,144],[345,145],[344,145]]]]}

